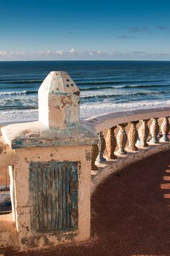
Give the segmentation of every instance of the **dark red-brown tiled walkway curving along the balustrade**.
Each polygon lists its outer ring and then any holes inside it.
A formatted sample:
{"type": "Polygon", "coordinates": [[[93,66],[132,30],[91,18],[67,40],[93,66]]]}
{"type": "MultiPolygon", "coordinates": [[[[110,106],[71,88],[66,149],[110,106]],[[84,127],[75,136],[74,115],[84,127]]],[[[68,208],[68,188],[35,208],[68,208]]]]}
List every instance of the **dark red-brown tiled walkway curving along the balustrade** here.
{"type": "MultiPolygon", "coordinates": [[[[91,200],[91,239],[17,255],[170,255],[170,151],[109,176],[91,200]]],[[[7,256],[15,254],[8,253],[7,256]]]]}

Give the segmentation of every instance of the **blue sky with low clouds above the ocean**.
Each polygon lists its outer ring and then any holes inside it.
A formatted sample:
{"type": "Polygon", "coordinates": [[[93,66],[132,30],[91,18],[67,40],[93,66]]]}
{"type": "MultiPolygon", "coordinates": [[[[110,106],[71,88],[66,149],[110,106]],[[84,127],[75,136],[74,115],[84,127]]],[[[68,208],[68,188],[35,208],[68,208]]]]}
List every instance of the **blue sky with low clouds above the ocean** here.
{"type": "Polygon", "coordinates": [[[0,61],[168,60],[169,0],[0,0],[0,61]]]}

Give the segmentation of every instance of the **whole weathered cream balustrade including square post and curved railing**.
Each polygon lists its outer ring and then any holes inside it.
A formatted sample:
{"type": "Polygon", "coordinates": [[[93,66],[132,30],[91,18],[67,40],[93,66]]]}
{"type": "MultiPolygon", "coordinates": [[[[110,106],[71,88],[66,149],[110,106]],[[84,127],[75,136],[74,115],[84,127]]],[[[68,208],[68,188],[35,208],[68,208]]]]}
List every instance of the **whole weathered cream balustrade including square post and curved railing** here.
{"type": "Polygon", "coordinates": [[[170,108],[79,115],[72,78],[50,72],[39,88],[39,121],[1,129],[0,165],[9,167],[12,200],[12,214],[0,216],[1,247],[28,251],[90,238],[98,184],[170,148],[170,108]]]}

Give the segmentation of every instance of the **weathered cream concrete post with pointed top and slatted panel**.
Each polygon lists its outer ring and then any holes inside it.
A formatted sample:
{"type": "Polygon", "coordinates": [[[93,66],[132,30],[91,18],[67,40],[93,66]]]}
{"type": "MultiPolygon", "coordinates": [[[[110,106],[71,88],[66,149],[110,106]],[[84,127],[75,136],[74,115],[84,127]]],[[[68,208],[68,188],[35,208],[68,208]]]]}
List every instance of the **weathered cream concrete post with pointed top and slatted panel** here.
{"type": "Polygon", "coordinates": [[[14,155],[12,215],[21,250],[90,236],[90,151],[98,140],[79,118],[76,84],[66,72],[50,72],[39,88],[39,121],[1,129],[14,155]]]}

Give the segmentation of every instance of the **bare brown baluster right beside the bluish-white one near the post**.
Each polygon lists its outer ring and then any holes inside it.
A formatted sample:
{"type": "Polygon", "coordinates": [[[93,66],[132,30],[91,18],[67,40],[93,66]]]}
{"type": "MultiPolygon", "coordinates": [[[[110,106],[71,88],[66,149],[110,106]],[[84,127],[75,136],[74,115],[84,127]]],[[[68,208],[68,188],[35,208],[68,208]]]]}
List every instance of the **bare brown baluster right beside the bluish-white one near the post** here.
{"type": "Polygon", "coordinates": [[[115,148],[117,145],[117,140],[115,138],[115,129],[116,127],[112,127],[108,129],[108,132],[107,132],[106,143],[107,143],[107,152],[108,152],[109,159],[117,159],[117,157],[114,154],[115,148]]]}

